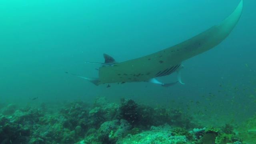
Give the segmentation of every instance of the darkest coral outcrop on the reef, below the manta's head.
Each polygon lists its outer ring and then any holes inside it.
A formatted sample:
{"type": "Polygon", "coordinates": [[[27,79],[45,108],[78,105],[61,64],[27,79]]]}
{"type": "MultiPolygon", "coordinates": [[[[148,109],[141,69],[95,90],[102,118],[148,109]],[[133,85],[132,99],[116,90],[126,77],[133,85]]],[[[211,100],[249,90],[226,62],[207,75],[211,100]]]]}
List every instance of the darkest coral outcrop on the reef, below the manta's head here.
{"type": "Polygon", "coordinates": [[[127,120],[132,126],[142,129],[149,129],[150,126],[160,126],[170,124],[190,128],[191,116],[184,116],[177,109],[152,108],[150,106],[139,105],[131,99],[121,99],[118,108],[118,118],[127,120]]]}

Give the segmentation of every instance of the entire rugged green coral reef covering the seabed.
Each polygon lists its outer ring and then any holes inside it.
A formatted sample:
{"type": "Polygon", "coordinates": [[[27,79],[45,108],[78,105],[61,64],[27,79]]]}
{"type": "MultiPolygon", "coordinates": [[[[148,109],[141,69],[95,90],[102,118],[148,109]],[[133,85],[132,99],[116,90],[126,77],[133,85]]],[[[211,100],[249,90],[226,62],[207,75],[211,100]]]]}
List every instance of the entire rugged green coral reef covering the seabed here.
{"type": "MultiPolygon", "coordinates": [[[[0,110],[0,144],[241,144],[234,127],[194,129],[192,116],[121,99],[65,102],[52,108],[15,104],[0,110]],[[189,131],[191,130],[191,131],[189,131]]],[[[252,120],[251,120],[252,121],[252,120]]],[[[249,123],[250,121],[248,121],[249,123]]],[[[251,128],[251,133],[253,133],[251,128]]],[[[239,136],[245,136],[240,132],[239,136]]],[[[245,137],[246,139],[246,137],[245,137]]]]}

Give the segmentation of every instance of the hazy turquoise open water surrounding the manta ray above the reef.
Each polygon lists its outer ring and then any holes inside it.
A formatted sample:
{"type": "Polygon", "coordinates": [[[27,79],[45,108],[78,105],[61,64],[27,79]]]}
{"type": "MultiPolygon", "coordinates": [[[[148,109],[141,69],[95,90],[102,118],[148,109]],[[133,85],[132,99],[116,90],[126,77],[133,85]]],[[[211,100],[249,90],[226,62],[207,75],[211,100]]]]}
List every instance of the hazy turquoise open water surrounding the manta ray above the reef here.
{"type": "MultiPolygon", "coordinates": [[[[2,0],[0,103],[90,102],[98,96],[119,102],[124,97],[179,107],[214,123],[250,118],[256,100],[253,0],[244,2],[240,21],[226,40],[184,61],[185,85],[140,82],[106,88],[65,73],[97,77],[98,66],[85,61],[103,62],[106,53],[122,62],[178,44],[221,22],[238,2],[2,0]]],[[[173,82],[176,75],[160,80],[173,82]]]]}

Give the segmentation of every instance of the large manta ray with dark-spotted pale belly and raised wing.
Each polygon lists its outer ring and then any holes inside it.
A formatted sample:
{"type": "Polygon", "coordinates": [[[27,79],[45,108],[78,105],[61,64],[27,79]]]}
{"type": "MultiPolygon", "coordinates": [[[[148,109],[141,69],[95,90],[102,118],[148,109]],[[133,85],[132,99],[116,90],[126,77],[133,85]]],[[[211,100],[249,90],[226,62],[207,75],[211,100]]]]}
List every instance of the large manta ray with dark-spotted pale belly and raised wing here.
{"type": "Polygon", "coordinates": [[[243,0],[240,1],[234,12],[220,24],[159,52],[124,62],[116,62],[114,58],[104,54],[104,63],[86,62],[101,65],[97,69],[98,78],[73,75],[84,78],[96,86],[106,83],[123,84],[125,82],[152,82],[162,86],[172,86],[178,82],[183,84],[180,78],[180,70],[183,68],[182,62],[220,44],[236,26],[242,9],[243,0]],[[156,80],[157,77],[167,76],[174,72],[178,74],[178,81],[176,82],[164,84],[156,80]]]}

